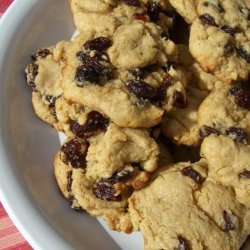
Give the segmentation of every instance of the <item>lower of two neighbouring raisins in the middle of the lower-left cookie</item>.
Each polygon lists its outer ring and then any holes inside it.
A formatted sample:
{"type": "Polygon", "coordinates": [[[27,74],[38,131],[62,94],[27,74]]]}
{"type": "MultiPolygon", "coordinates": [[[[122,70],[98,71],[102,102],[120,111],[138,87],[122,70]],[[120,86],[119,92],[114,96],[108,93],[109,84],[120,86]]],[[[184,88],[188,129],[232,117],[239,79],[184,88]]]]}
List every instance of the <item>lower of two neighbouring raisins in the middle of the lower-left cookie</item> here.
{"type": "Polygon", "coordinates": [[[93,187],[95,196],[105,201],[119,201],[121,196],[116,196],[116,189],[113,186],[107,185],[103,182],[98,182],[93,187]]]}

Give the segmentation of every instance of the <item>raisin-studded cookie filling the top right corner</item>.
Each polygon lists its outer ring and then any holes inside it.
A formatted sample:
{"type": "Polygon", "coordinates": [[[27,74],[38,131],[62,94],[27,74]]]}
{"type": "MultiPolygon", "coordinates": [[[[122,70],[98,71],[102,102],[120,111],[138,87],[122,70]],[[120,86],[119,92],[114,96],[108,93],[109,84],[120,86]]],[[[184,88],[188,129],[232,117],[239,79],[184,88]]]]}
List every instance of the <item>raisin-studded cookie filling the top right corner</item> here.
{"type": "Polygon", "coordinates": [[[250,70],[249,9],[246,1],[199,1],[189,48],[206,72],[225,83],[246,80],[250,70]]]}

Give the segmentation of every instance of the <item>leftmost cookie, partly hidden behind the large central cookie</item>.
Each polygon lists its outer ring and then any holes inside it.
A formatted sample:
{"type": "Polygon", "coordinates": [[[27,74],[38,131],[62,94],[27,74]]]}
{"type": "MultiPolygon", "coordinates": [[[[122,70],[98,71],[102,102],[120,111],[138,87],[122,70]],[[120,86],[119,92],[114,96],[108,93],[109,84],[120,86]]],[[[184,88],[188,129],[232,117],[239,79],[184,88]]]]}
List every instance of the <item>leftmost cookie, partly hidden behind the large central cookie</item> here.
{"type": "Polygon", "coordinates": [[[32,63],[25,69],[27,83],[32,89],[32,104],[39,118],[61,130],[55,113],[55,102],[62,95],[62,67],[67,46],[62,41],[56,46],[34,53],[32,63]]]}

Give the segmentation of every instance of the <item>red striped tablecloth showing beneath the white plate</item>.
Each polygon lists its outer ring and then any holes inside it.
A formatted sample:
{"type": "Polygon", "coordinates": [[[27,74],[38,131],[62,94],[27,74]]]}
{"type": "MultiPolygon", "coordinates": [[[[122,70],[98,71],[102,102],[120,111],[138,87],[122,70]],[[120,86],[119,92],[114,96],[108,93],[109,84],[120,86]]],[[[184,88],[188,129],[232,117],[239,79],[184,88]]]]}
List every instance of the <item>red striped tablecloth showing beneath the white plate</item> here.
{"type": "MultiPolygon", "coordinates": [[[[0,17],[7,10],[13,0],[0,0],[0,17]]],[[[8,214],[0,203],[0,249],[30,250],[31,246],[18,232],[8,214]]]]}

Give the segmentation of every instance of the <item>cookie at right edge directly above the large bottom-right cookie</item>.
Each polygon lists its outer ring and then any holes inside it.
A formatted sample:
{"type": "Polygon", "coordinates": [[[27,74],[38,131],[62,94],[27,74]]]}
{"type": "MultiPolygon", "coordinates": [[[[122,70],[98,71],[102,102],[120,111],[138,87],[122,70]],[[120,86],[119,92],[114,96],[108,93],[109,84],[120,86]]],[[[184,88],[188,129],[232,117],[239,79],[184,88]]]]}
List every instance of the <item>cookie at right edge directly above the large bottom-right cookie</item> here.
{"type": "Polygon", "coordinates": [[[210,135],[201,145],[201,155],[209,164],[210,176],[235,190],[236,198],[250,207],[250,146],[226,136],[210,135]]]}

